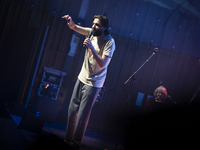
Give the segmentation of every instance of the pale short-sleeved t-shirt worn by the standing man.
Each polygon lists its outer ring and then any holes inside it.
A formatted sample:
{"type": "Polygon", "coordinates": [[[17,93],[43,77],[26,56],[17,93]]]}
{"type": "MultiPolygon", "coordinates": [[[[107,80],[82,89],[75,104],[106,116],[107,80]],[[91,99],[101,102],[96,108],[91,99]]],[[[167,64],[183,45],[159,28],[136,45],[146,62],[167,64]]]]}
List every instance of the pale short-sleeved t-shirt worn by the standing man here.
{"type": "MultiPolygon", "coordinates": [[[[91,28],[87,29],[90,34],[91,28]]],[[[91,36],[90,40],[100,56],[106,55],[112,57],[115,50],[115,41],[110,35],[104,36],[101,39],[98,39],[96,36],[91,36]]],[[[107,67],[108,65],[105,68],[101,68],[93,57],[91,50],[87,48],[78,79],[89,86],[101,88],[106,79],[107,67]]]]}

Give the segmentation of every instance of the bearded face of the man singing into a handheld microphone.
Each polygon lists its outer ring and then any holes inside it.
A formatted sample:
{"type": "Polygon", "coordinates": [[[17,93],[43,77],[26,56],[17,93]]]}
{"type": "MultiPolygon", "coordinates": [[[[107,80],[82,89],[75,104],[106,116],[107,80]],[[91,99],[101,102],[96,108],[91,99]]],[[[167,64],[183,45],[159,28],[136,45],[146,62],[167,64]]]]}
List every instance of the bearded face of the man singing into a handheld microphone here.
{"type": "Polygon", "coordinates": [[[94,36],[101,36],[104,32],[101,21],[97,18],[95,18],[93,21],[92,29],[94,30],[94,36]]]}

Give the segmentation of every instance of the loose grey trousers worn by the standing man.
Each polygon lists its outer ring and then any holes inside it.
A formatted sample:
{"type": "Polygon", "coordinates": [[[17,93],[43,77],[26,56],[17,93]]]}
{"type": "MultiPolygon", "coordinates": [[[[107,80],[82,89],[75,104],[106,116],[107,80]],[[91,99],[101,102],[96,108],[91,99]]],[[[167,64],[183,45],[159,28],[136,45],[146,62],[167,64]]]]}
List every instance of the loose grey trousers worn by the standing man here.
{"type": "Polygon", "coordinates": [[[85,134],[92,107],[100,88],[91,87],[77,80],[68,108],[65,141],[79,147],[85,134]]]}

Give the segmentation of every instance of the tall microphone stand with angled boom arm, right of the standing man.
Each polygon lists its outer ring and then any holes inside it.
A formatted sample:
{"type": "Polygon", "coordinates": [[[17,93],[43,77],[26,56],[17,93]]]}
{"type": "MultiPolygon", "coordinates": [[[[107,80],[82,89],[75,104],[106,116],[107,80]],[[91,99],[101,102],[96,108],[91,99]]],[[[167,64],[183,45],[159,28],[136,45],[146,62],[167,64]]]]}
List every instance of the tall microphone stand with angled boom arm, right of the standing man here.
{"type": "Polygon", "coordinates": [[[133,79],[133,82],[132,82],[132,85],[131,85],[131,90],[129,92],[128,100],[127,100],[127,103],[126,103],[126,109],[125,109],[125,113],[124,113],[124,117],[123,117],[123,122],[122,122],[122,125],[121,125],[121,128],[120,128],[120,132],[119,132],[119,135],[118,135],[118,138],[117,138],[116,145],[115,145],[115,150],[117,150],[117,145],[118,145],[118,142],[119,142],[119,138],[120,138],[120,135],[121,135],[121,132],[122,132],[122,128],[124,126],[124,122],[125,122],[125,118],[126,118],[126,112],[127,112],[127,109],[128,109],[128,104],[129,104],[130,99],[131,99],[133,85],[134,85],[135,79],[136,79],[135,75],[156,54],[156,52],[158,52],[158,48],[154,48],[153,53],[151,54],[151,56],[124,83],[124,84],[127,84],[130,79],[133,79]]]}

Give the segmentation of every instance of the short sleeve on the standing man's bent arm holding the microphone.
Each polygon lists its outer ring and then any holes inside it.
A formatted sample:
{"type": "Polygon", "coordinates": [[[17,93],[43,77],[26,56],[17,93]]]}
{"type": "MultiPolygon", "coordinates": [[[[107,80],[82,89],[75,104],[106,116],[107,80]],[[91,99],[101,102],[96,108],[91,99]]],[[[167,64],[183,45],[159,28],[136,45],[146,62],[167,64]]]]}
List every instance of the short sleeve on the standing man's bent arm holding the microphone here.
{"type": "Polygon", "coordinates": [[[106,43],[103,55],[112,57],[114,51],[115,51],[115,40],[111,39],[106,43]]]}

